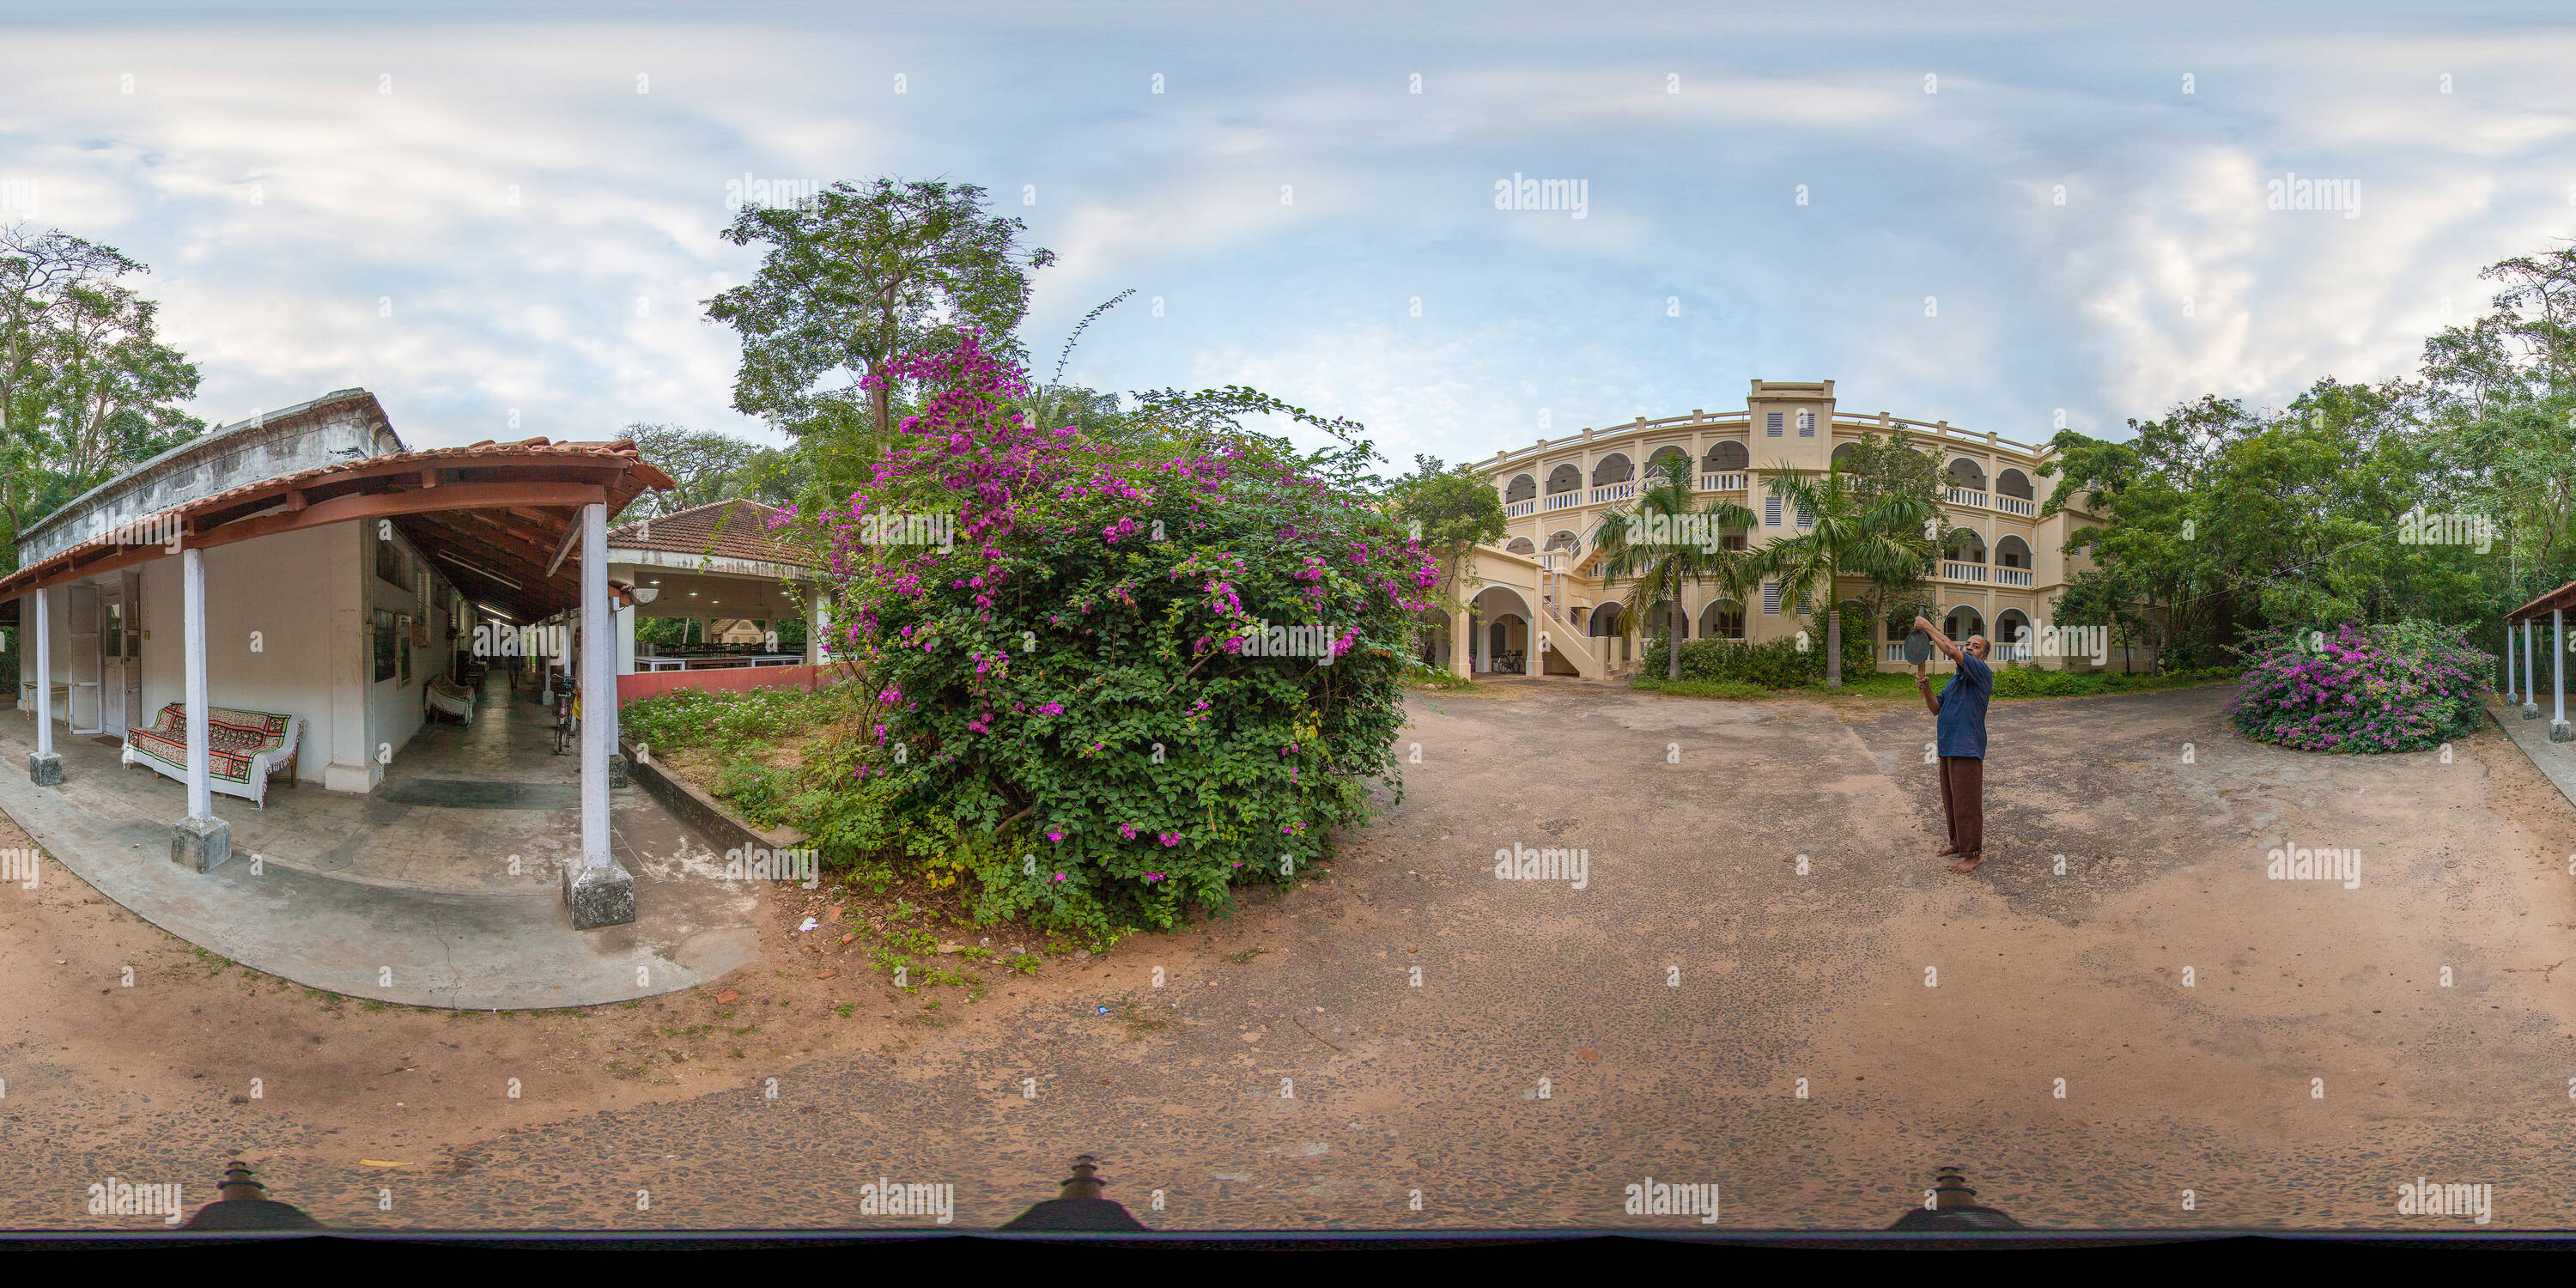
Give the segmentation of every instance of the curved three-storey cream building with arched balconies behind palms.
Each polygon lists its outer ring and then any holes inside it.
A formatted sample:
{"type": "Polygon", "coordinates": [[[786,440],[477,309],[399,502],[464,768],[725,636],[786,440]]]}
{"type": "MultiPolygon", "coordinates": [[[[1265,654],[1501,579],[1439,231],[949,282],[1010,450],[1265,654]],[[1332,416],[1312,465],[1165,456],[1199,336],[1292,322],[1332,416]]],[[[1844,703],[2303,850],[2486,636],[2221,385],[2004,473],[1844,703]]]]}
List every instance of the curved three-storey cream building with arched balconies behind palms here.
{"type": "MultiPolygon", "coordinates": [[[[1801,515],[1783,513],[1767,477],[1780,469],[1824,469],[1860,435],[1886,438],[1906,430],[1914,443],[1942,461],[1947,477],[1945,513],[1953,528],[1945,559],[1932,577],[1950,636],[1984,634],[1994,639],[1996,659],[2040,667],[2094,667],[2084,657],[2056,657],[2066,649],[2050,631],[2048,605],[2063,585],[2092,567],[2084,554],[2061,554],[2066,533],[2094,523],[2081,505],[2066,505],[2040,518],[2056,479],[2040,466],[2048,448],[2014,443],[1996,433],[1968,433],[1947,420],[1924,422],[1886,412],[1857,417],[1834,407],[1834,381],[1752,381],[1741,412],[1703,412],[1582,430],[1479,461],[1499,492],[1510,528],[1502,544],[1479,546],[1461,598],[1461,613],[1432,613],[1425,657],[1448,657],[1453,672],[1522,672],[1605,677],[1633,670],[1633,652],[1654,636],[1641,626],[1636,641],[1623,639],[1620,616],[1633,590],[1602,580],[1602,559],[1592,538],[1600,520],[1633,505],[1638,484],[1667,456],[1685,456],[1698,479],[1698,502],[1736,502],[1759,518],[1744,533],[1765,546],[1801,531],[1801,515]]],[[[1844,582],[1855,592],[1865,582],[1844,582]]],[[[1716,587],[1690,587],[1682,598],[1687,639],[1770,641],[1808,631],[1816,647],[1824,629],[1801,616],[1795,603],[1780,603],[1775,587],[1747,595],[1754,603],[1723,598],[1716,587]]],[[[1906,670],[1901,644],[1886,623],[1873,621],[1873,654],[1880,670],[1906,670]]],[[[1901,634],[1896,636],[1901,639],[1901,634]]],[[[2123,657],[2107,649],[2102,665],[2146,667],[2148,652],[2123,657]]],[[[1945,670],[1945,667],[1937,667],[1945,670]]]]}

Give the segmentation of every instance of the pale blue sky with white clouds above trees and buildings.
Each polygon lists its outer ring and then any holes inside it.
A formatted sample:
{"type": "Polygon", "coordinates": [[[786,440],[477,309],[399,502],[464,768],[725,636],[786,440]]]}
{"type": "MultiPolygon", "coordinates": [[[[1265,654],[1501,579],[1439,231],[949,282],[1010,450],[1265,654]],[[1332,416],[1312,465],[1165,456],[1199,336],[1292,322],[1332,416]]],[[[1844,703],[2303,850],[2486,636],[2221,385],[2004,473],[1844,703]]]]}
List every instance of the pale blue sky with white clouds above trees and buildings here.
{"type": "Polygon", "coordinates": [[[2563,3],[0,0],[0,219],[147,260],[209,422],[366,386],[415,446],[762,438],[698,314],[757,265],[729,183],[878,173],[1061,255],[1041,368],[1136,289],[1066,376],[1252,384],[1396,461],[1752,376],[2043,440],[2409,374],[2576,234],[2568,67],[2563,3]],[[2347,209],[2272,209],[2293,175],[2347,209]]]}

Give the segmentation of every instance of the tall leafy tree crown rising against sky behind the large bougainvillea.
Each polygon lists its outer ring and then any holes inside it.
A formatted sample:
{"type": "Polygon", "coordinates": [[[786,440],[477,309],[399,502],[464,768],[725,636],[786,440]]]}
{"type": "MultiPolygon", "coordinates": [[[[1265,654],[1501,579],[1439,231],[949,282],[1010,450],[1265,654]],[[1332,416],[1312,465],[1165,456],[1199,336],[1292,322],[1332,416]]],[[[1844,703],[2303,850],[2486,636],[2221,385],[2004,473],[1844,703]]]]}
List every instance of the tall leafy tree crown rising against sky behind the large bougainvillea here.
{"type": "Polygon", "coordinates": [[[747,206],[724,240],[762,245],[760,276],[716,294],[706,314],[742,332],[734,410],[793,433],[866,410],[868,456],[894,428],[896,389],[868,381],[891,358],[945,343],[961,327],[989,350],[1018,353],[1028,270],[1020,219],[984,214],[984,188],[876,178],[835,183],[793,206],[747,206]]]}

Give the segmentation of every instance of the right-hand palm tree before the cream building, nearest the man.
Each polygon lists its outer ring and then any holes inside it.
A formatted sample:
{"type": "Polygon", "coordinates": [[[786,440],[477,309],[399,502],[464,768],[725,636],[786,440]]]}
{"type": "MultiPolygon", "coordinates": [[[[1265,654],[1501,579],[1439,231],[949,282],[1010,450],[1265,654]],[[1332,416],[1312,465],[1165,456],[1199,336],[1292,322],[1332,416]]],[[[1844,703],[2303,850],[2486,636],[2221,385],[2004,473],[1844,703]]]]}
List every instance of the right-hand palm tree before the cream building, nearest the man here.
{"type": "Polygon", "coordinates": [[[1752,572],[1780,582],[1783,603],[1824,608],[1824,688],[1842,688],[1842,600],[1844,577],[1868,577],[1883,587],[1909,585],[1924,574],[1940,507],[1899,489],[1865,497],[1837,466],[1821,471],[1772,466],[1770,495],[1798,515],[1798,536],[1785,536],[1754,551],[1752,572]]]}

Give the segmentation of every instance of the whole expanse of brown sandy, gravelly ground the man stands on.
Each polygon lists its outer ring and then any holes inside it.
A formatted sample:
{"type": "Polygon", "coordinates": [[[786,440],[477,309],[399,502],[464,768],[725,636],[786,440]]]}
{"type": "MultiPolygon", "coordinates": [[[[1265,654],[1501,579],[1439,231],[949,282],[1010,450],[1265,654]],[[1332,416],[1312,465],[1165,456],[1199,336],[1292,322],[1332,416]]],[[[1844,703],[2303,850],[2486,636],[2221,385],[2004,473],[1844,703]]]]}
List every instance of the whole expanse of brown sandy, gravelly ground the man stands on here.
{"type": "Polygon", "coordinates": [[[796,935],[829,902],[773,889],[719,987],[368,1010],[46,863],[0,889],[0,1226],[95,1224],[108,1175],[211,1195],[234,1151],[350,1226],[925,1224],[860,1216],[876,1177],[989,1226],[1074,1151],[1167,1229],[1695,1224],[1623,1213],[1646,1177],[1721,1182],[1721,1226],[1886,1226],[1935,1164],[2032,1226],[2465,1226],[2398,1216],[2419,1175],[2576,1224],[2576,809],[2494,732],[2316,757],[2223,698],[1999,703],[1996,858],[1950,876],[1904,703],[1425,693],[1404,804],[1329,876],[974,963],[979,1002],[894,992],[835,935],[871,909],[796,935]],[[1499,881],[1517,845],[1584,850],[1584,889],[1499,881]]]}

